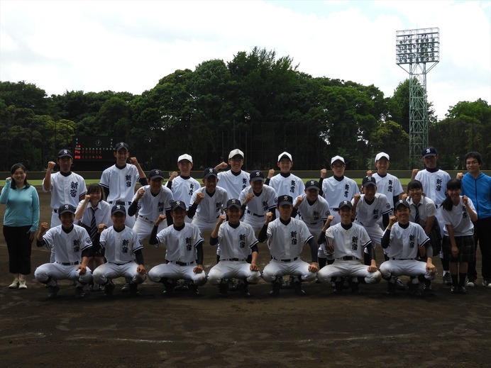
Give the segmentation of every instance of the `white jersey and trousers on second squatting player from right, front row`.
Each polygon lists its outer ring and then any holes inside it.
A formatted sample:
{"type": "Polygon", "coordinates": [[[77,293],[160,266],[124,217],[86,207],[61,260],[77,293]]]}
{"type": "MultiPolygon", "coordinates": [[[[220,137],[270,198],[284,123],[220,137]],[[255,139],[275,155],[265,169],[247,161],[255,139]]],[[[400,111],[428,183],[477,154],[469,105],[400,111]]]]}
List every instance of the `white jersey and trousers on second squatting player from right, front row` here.
{"type": "Polygon", "coordinates": [[[363,226],[351,223],[345,229],[336,223],[327,228],[326,239],[334,247],[334,262],[319,269],[319,281],[329,282],[331,277],[364,277],[367,284],[380,281],[380,272],[368,272],[368,266],[363,264],[363,251],[371,244],[363,226]]]}

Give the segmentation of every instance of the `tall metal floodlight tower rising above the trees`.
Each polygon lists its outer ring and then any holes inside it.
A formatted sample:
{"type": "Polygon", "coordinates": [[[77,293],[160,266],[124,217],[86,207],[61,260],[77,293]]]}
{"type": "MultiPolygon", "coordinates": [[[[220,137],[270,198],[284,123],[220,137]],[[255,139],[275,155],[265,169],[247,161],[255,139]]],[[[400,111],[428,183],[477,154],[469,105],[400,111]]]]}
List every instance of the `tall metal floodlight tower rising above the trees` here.
{"type": "Polygon", "coordinates": [[[428,147],[426,74],[439,61],[438,28],[396,31],[396,64],[409,73],[409,165],[428,147]]]}

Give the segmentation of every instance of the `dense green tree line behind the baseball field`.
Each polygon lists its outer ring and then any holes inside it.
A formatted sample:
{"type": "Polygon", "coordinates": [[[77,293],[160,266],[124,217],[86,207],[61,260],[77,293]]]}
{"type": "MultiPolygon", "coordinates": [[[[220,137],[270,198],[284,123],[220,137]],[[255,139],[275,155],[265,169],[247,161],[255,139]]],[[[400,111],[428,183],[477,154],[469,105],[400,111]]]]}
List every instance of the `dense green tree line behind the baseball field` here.
{"type": "MultiPolygon", "coordinates": [[[[141,95],[66,91],[47,96],[35,84],[0,82],[0,171],[15,162],[42,170],[76,136],[121,137],[142,167],[174,169],[177,155],[194,169],[227,160],[239,147],[245,168],[276,167],[292,153],[295,169],[320,169],[341,155],[348,169],[373,167],[375,153],[392,169],[409,162],[409,79],[385,97],[370,84],[311,77],[291,57],[254,48],[229,62],[208,60],[176,70],[141,95]]],[[[444,169],[463,169],[463,155],[482,154],[491,165],[491,106],[460,101],[437,121],[429,104],[429,144],[444,169]]]]}

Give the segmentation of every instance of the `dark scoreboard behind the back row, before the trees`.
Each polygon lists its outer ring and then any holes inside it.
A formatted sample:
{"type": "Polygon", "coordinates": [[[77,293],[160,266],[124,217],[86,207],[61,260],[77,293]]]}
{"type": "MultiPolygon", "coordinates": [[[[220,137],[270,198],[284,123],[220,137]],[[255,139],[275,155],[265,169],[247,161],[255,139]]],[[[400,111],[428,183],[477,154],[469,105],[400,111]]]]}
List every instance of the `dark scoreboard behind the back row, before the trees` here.
{"type": "Polygon", "coordinates": [[[74,137],[73,163],[77,169],[92,170],[109,167],[115,162],[114,145],[121,142],[114,137],[74,137]]]}

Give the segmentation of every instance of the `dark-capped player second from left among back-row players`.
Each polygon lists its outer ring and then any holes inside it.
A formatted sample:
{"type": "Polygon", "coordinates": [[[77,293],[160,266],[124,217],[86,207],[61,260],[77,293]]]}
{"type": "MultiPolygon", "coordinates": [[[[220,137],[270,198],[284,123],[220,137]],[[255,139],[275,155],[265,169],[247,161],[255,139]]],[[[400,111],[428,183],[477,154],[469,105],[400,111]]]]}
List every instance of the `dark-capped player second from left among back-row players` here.
{"type": "MultiPolygon", "coordinates": [[[[148,185],[148,181],[136,157],[130,158],[131,164],[126,163],[130,157],[130,147],[126,143],[120,142],[114,146],[114,157],[116,164],[102,172],[99,184],[104,189],[109,204],[116,204],[116,201],[124,202],[127,209],[135,195],[136,182],[145,186],[148,185]]],[[[133,216],[126,216],[126,226],[133,228],[134,223],[133,216]]]]}

